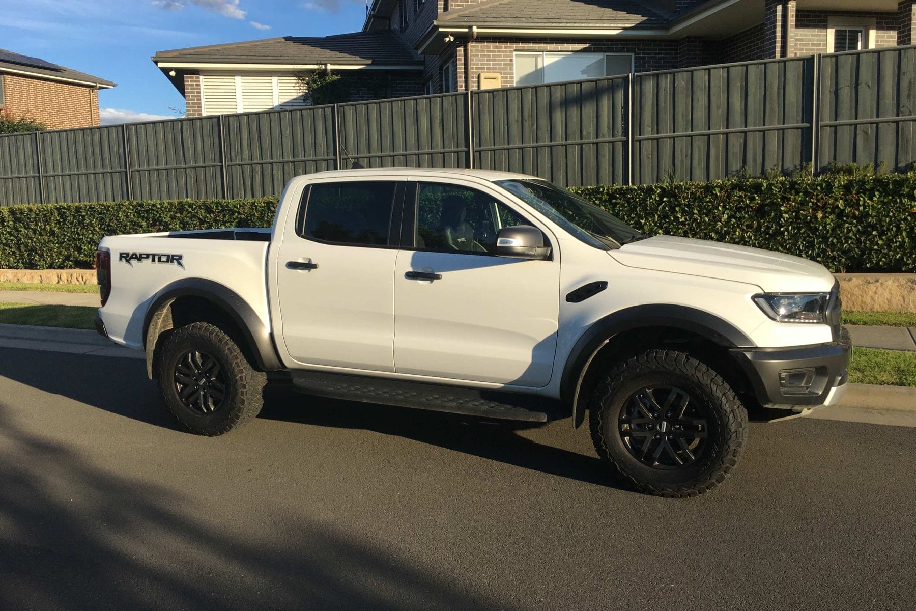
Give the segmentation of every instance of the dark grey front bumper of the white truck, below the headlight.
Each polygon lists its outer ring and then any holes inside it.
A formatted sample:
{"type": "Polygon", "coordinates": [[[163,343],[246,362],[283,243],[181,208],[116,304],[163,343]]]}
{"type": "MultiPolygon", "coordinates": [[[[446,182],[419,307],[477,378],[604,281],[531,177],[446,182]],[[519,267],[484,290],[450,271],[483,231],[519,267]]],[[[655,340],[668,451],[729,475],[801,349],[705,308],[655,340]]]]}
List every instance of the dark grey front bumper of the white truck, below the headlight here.
{"type": "Polygon", "coordinates": [[[845,394],[852,355],[848,333],[829,344],[791,348],[735,348],[735,358],[765,408],[834,405],[845,394]]]}

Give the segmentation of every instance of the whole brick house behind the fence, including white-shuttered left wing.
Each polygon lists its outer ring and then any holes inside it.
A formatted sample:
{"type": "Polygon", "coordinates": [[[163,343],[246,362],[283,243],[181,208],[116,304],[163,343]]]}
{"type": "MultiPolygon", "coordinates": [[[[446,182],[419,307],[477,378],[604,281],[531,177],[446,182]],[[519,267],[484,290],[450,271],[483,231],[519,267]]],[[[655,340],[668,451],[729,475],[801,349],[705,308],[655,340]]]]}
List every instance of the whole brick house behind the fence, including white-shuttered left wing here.
{"type": "Polygon", "coordinates": [[[304,104],[277,93],[303,68],[386,74],[382,96],[444,93],[908,45],[914,24],[916,0],[373,0],[361,32],[153,60],[193,116],[304,104]]]}

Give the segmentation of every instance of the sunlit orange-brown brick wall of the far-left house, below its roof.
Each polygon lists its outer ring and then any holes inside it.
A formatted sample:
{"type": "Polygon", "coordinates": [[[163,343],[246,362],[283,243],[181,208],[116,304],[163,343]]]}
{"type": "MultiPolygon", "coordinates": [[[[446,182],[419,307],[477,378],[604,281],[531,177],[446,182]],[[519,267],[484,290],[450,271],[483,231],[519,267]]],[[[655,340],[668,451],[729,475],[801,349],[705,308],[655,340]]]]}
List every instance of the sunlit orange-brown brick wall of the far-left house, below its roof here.
{"type": "Polygon", "coordinates": [[[99,95],[91,87],[4,74],[3,109],[52,129],[99,125],[99,95]]]}

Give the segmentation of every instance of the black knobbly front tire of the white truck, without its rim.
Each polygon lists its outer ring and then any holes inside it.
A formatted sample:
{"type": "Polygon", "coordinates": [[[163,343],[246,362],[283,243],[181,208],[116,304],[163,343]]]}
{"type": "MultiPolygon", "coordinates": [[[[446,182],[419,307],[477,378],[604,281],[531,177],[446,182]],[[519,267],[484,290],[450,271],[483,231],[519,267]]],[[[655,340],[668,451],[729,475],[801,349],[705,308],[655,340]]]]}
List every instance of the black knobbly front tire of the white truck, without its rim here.
{"type": "Polygon", "coordinates": [[[732,387],[703,362],[670,350],[649,350],[612,366],[595,387],[589,409],[594,448],[612,474],[639,492],[656,496],[697,496],[718,486],[735,468],[747,437],[747,410],[732,387]],[[624,404],[631,405],[629,401],[638,400],[634,393],[651,385],[680,386],[705,401],[708,437],[694,463],[668,470],[649,466],[634,454],[639,448],[631,450],[623,439],[624,404]]]}

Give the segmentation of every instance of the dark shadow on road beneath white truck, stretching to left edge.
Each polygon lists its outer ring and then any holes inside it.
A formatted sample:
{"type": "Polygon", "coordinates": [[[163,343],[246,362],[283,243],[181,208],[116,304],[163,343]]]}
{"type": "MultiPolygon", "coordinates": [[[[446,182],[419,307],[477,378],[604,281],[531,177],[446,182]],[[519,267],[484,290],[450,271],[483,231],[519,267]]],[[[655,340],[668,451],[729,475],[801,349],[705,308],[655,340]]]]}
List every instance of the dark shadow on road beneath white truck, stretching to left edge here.
{"type": "MultiPolygon", "coordinates": [[[[158,387],[147,379],[140,360],[0,348],[0,376],[151,426],[183,431],[162,405],[158,387]]],[[[260,418],[375,431],[545,474],[618,487],[596,456],[518,434],[540,426],[530,423],[311,398],[282,385],[267,388],[260,418]]]]}

